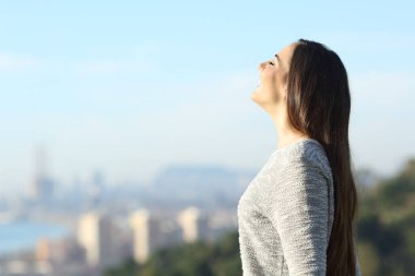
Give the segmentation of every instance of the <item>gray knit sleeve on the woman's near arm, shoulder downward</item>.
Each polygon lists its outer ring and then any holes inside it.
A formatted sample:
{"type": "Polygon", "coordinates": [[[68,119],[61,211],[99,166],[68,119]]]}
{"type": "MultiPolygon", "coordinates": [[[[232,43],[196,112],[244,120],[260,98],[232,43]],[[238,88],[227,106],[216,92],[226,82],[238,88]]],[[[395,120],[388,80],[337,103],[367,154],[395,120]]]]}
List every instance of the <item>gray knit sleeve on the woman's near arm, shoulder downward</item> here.
{"type": "Polygon", "coordinates": [[[274,178],[265,213],[276,229],[290,276],[325,276],[329,179],[306,158],[290,160],[274,178]]]}

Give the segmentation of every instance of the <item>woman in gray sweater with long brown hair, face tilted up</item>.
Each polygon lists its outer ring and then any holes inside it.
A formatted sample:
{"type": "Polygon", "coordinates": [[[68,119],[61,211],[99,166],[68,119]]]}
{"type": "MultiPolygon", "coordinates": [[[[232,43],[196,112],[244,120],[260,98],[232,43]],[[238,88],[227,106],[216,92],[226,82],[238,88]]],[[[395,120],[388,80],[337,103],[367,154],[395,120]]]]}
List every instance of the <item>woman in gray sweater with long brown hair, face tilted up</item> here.
{"type": "Polygon", "coordinates": [[[259,71],[251,99],[278,139],[239,200],[244,275],[360,275],[346,70],[324,45],[299,39],[259,71]]]}

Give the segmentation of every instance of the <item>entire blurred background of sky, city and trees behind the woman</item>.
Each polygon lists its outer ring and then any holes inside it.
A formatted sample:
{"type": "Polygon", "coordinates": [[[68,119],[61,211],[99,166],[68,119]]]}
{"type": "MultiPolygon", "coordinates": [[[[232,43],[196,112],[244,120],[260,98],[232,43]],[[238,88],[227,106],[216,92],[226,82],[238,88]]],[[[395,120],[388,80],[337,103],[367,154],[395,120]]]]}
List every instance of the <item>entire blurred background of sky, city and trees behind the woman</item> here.
{"type": "Polygon", "coordinates": [[[276,147],[258,64],[349,76],[363,275],[415,275],[412,1],[7,1],[0,275],[241,275],[236,206],[276,147]]]}

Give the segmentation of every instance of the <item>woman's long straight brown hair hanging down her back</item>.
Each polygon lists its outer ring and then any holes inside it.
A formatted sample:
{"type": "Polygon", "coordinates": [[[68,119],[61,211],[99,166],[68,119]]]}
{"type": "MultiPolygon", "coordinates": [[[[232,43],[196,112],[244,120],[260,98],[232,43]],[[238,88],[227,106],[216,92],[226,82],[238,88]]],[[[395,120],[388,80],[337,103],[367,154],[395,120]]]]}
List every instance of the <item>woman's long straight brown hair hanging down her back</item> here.
{"type": "Polygon", "coordinates": [[[327,46],[299,39],[286,81],[289,121],[323,146],[332,169],[334,219],[327,249],[327,275],[355,276],[358,206],[348,145],[351,94],[346,69],[327,46]]]}

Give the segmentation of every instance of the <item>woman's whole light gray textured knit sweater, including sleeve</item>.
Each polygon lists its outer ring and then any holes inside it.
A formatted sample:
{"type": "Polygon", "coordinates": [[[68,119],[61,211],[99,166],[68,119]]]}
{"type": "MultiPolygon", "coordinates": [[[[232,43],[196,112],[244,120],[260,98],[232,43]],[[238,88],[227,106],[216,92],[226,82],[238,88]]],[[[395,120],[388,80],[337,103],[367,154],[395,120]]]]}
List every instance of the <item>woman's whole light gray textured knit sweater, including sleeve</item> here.
{"type": "MultiPolygon", "coordinates": [[[[244,276],[325,276],[334,217],[323,147],[306,139],[276,149],[238,203],[244,276]]],[[[357,250],[356,275],[360,275],[357,250]]]]}

